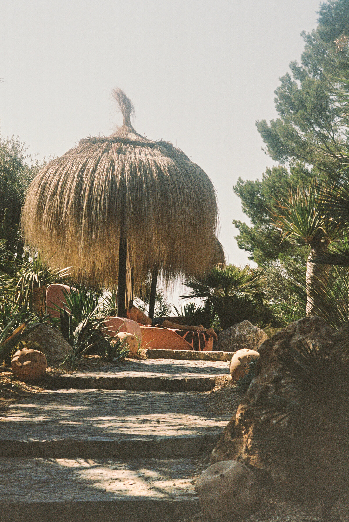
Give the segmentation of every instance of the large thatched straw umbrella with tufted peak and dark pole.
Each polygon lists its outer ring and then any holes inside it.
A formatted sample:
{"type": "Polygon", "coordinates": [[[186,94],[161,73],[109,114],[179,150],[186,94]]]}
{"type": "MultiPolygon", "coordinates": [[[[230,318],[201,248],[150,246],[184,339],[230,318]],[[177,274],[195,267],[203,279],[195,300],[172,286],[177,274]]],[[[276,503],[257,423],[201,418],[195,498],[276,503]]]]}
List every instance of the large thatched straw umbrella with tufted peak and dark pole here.
{"type": "Polygon", "coordinates": [[[209,177],[167,141],[131,125],[133,105],[114,97],[123,125],[89,137],[49,162],[29,186],[22,209],[28,244],[81,281],[115,288],[124,316],[129,248],[137,285],[158,266],[165,279],[200,275],[217,259],[217,202],[209,177]]]}

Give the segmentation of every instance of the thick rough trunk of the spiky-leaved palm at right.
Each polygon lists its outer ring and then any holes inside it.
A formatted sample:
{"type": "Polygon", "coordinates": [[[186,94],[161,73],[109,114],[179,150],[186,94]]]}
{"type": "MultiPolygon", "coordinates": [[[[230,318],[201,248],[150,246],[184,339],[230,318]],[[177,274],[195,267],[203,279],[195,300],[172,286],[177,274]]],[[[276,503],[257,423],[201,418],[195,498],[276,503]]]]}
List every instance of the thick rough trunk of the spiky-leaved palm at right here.
{"type": "Polygon", "coordinates": [[[317,254],[324,254],[327,247],[311,248],[307,259],[307,270],[305,275],[307,304],[305,313],[310,315],[321,315],[323,305],[326,303],[327,285],[330,274],[330,265],[313,263],[317,254]]]}

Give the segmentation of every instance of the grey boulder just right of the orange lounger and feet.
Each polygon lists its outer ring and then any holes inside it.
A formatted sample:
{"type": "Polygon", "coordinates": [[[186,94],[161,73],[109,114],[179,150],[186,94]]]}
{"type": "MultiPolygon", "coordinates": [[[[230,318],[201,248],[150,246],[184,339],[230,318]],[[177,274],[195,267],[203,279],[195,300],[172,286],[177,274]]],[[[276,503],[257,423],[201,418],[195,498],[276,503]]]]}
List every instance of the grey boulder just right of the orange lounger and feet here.
{"type": "Polygon", "coordinates": [[[250,321],[242,321],[221,331],[218,335],[216,350],[224,352],[236,352],[247,348],[257,350],[268,339],[267,334],[258,326],[254,326],[250,321]]]}

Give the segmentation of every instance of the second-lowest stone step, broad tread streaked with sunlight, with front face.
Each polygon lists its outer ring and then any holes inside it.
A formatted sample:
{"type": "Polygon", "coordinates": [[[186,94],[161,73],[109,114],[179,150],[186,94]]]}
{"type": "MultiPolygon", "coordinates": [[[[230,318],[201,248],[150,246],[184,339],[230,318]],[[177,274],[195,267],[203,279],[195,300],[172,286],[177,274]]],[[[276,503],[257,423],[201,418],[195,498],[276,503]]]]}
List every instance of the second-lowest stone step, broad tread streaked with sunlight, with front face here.
{"type": "Polygon", "coordinates": [[[0,417],[6,456],[192,456],[214,446],[231,412],[211,418],[207,394],[46,390],[0,417]]]}

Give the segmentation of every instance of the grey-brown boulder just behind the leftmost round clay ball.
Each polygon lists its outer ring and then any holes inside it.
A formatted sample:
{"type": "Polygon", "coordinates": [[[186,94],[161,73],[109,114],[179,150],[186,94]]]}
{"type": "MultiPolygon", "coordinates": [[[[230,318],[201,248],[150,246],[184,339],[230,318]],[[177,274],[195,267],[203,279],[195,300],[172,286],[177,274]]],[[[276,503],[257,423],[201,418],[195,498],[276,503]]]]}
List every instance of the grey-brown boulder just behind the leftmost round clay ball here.
{"type": "Polygon", "coordinates": [[[26,343],[37,343],[46,355],[48,364],[60,364],[71,353],[72,348],[58,330],[46,324],[34,325],[26,335],[26,343]]]}

